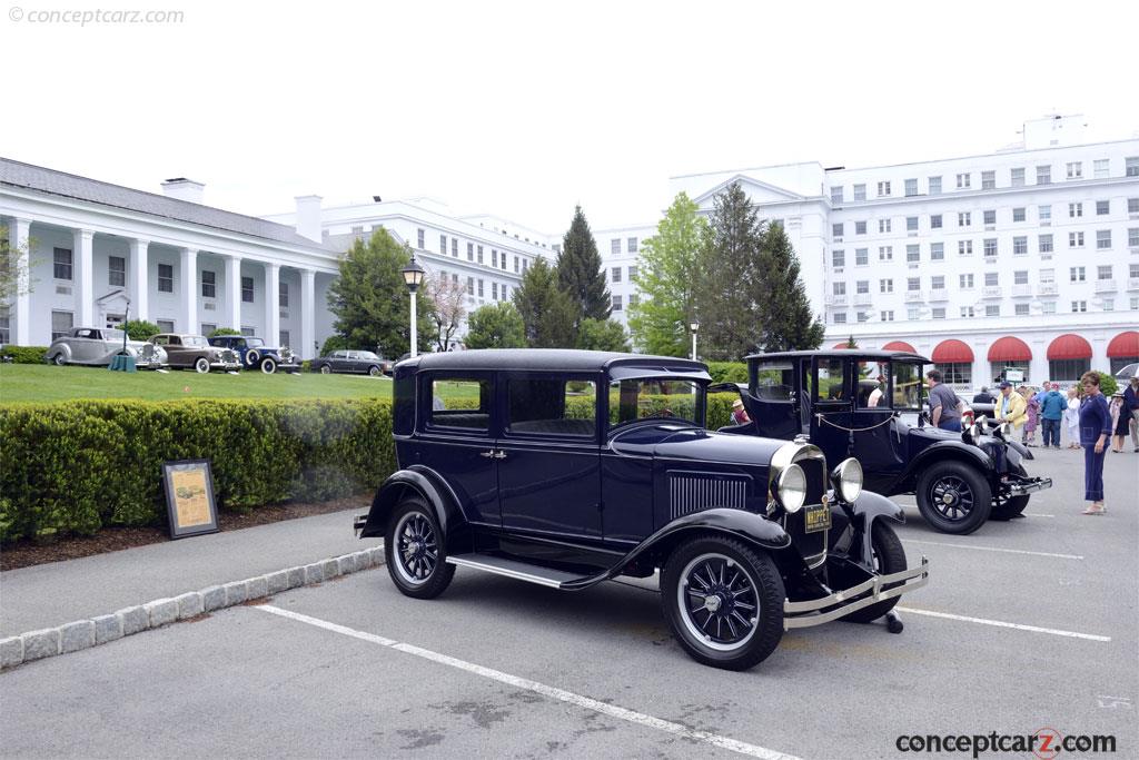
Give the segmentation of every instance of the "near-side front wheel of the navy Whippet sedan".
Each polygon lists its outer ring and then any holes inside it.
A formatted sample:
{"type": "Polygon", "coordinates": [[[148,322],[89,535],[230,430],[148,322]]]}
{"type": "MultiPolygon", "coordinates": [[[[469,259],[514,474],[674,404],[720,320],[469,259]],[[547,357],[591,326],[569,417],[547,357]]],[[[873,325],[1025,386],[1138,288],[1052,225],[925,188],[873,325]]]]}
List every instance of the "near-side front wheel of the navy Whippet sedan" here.
{"type": "Polygon", "coordinates": [[[661,577],[672,635],[694,660],[713,668],[747,670],[775,652],[785,599],[771,557],[731,538],[680,546],[661,577]]]}

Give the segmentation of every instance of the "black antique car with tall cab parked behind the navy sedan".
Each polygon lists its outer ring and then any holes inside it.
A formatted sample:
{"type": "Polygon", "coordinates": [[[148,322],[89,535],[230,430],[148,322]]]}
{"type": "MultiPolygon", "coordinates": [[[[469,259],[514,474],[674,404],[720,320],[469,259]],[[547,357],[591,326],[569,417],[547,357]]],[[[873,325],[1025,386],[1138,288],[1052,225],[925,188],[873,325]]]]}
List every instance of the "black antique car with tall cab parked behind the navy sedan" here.
{"type": "Polygon", "coordinates": [[[921,516],[945,533],[1021,515],[1030,495],[1052,481],[1029,476],[1032,453],[1006,425],[975,422],[962,433],[929,425],[928,363],[916,353],[858,349],[751,356],[747,387],[734,390],[752,422],[723,430],[810,442],[831,460],[855,457],[867,488],[913,493],[921,516]]]}

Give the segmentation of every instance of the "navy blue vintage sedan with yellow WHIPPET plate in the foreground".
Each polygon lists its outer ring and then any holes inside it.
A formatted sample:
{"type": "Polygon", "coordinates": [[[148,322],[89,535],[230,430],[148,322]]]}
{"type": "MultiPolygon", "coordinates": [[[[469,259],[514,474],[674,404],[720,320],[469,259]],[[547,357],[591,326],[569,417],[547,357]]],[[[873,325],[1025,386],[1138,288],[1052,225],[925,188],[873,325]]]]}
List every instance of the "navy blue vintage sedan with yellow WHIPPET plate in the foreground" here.
{"type": "Polygon", "coordinates": [[[361,537],[385,539],[407,596],[456,566],[563,590],[661,570],[672,632],[697,661],[761,662],[784,631],[869,622],[925,585],[854,459],[705,430],[705,365],[568,350],[432,353],[395,366],[399,471],[361,537]]]}

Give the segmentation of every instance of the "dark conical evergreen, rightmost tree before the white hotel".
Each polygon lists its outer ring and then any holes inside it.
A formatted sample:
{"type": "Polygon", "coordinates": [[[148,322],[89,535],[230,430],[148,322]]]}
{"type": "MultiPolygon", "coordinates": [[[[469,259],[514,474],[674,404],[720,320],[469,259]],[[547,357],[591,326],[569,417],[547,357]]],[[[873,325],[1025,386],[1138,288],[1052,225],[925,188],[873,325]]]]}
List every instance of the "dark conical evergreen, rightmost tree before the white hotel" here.
{"type": "Polygon", "coordinates": [[[811,301],[798,276],[798,256],[782,224],[769,224],[763,232],[759,273],[760,346],[764,351],[819,348],[826,327],[811,313],[811,301]]]}

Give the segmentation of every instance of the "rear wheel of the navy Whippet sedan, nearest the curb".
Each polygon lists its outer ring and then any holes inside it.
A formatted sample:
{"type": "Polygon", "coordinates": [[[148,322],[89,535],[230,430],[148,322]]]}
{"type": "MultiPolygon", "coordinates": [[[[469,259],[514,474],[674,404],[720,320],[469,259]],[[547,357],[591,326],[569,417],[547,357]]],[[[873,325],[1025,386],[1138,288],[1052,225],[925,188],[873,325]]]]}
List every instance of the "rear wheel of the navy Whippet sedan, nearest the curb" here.
{"type": "Polygon", "coordinates": [[[418,495],[405,497],[392,513],[384,554],[395,588],[417,599],[439,596],[454,577],[435,510],[418,495]]]}

